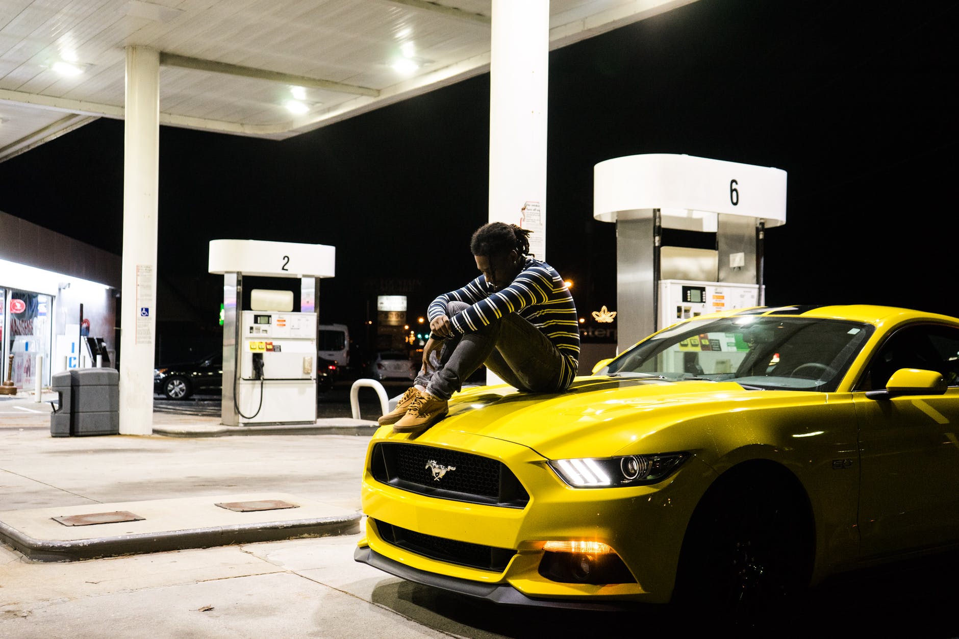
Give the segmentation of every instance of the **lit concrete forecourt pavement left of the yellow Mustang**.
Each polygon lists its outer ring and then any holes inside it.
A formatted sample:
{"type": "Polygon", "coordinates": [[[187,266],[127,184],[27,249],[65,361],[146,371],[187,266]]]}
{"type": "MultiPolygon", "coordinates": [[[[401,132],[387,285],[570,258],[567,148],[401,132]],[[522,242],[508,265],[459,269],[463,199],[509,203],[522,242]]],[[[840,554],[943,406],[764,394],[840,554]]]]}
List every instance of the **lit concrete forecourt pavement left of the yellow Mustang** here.
{"type": "Polygon", "coordinates": [[[0,401],[0,636],[478,636],[429,612],[413,621],[402,611],[406,582],[353,560],[368,424],[343,425],[356,427],[348,435],[322,424],[310,433],[324,437],[183,437],[215,429],[219,417],[154,414],[161,428],[152,436],[53,438],[42,399],[0,401]],[[158,435],[163,428],[179,435],[158,435]],[[270,500],[295,508],[216,506],[270,500]],[[142,519],[53,519],[121,510],[142,519]],[[307,519],[316,528],[292,528],[307,519]],[[324,528],[324,519],[335,522],[324,528]],[[255,529],[270,522],[289,528],[274,526],[273,539],[258,541],[255,529]],[[187,534],[200,529],[223,536],[211,543],[209,534],[187,534]],[[227,538],[244,529],[246,537],[227,538]],[[47,543],[31,556],[36,548],[14,547],[23,544],[14,533],[47,543]],[[163,533],[206,547],[151,547],[150,535],[163,533]],[[78,552],[90,539],[103,542],[92,554],[101,558],[78,552]],[[53,542],[69,552],[42,556],[53,542]]]}

